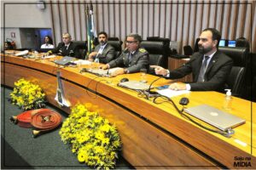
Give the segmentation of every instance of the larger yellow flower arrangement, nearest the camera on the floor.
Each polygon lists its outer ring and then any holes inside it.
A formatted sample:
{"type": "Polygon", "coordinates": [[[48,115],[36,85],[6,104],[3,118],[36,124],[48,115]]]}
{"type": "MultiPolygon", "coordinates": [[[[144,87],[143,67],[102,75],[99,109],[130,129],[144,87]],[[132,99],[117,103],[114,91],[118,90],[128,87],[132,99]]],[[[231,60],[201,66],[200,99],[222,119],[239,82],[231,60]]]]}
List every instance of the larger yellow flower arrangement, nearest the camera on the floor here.
{"type": "Polygon", "coordinates": [[[119,133],[108,119],[89,111],[91,104],[75,105],[63,122],[60,135],[65,144],[71,144],[78,160],[96,169],[114,168],[121,150],[119,133]]]}

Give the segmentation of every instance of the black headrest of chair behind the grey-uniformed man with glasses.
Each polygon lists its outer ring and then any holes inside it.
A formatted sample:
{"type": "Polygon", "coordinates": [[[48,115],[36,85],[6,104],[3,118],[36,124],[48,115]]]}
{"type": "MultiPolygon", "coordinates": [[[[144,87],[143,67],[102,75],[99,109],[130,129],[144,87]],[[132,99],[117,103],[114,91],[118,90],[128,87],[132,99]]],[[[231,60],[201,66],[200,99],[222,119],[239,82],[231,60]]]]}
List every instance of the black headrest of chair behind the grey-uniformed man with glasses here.
{"type": "Polygon", "coordinates": [[[143,41],[141,47],[145,48],[149,54],[166,54],[165,42],[143,41]]]}

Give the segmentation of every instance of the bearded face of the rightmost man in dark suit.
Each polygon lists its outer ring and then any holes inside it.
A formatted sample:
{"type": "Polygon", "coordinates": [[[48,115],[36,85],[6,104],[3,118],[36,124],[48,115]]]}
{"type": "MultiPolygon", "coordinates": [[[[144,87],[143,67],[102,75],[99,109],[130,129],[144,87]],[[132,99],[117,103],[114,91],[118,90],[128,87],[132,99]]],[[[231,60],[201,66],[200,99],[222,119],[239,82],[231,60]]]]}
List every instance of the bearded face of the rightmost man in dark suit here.
{"type": "Polygon", "coordinates": [[[217,43],[217,40],[212,41],[211,31],[203,31],[198,42],[199,53],[212,54],[213,50],[216,49],[217,43]]]}

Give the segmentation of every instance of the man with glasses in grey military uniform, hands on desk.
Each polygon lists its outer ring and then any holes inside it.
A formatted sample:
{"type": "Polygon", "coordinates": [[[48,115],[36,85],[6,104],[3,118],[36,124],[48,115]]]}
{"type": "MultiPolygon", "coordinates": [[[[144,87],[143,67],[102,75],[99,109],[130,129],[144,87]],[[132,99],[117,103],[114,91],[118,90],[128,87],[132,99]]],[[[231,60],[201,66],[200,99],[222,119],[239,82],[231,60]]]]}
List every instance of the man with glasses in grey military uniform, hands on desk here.
{"type": "Polygon", "coordinates": [[[144,48],[140,48],[141,41],[142,37],[138,34],[128,35],[125,40],[126,48],[119,58],[110,61],[107,65],[101,66],[101,68],[125,67],[114,71],[112,76],[139,72],[143,68],[148,70],[149,54],[144,48]]]}

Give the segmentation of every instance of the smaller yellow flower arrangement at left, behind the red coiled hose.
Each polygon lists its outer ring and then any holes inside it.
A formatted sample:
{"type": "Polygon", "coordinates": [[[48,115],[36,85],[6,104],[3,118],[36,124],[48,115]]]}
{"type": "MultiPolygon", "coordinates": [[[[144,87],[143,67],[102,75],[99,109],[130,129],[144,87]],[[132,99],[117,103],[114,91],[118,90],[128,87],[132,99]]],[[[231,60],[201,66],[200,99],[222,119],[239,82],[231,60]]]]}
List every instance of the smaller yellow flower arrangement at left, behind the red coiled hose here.
{"type": "Polygon", "coordinates": [[[21,78],[15,82],[14,91],[10,94],[10,101],[24,111],[39,109],[45,106],[45,94],[37,84],[21,78]]]}

